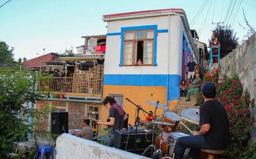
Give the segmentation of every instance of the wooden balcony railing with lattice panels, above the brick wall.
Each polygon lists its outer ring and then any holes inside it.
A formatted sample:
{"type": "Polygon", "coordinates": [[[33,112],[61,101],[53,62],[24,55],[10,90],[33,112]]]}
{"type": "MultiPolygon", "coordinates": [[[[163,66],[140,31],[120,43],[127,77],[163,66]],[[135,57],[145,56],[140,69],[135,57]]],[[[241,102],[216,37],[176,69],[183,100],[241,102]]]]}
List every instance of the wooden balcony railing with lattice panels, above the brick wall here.
{"type": "Polygon", "coordinates": [[[38,91],[47,90],[68,96],[101,96],[103,90],[104,65],[74,73],[72,77],[41,77],[38,91]]]}

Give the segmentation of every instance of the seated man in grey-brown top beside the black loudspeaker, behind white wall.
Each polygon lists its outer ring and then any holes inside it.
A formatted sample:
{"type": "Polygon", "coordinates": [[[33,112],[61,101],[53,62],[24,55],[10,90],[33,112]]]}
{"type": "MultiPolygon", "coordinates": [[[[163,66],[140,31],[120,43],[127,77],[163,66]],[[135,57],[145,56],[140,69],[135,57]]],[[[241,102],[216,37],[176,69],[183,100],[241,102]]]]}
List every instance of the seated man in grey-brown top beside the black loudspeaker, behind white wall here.
{"type": "Polygon", "coordinates": [[[77,132],[73,130],[72,132],[75,134],[75,136],[83,137],[83,139],[88,139],[92,141],[93,139],[93,129],[89,126],[90,120],[83,120],[83,129],[81,132],[77,132]]]}

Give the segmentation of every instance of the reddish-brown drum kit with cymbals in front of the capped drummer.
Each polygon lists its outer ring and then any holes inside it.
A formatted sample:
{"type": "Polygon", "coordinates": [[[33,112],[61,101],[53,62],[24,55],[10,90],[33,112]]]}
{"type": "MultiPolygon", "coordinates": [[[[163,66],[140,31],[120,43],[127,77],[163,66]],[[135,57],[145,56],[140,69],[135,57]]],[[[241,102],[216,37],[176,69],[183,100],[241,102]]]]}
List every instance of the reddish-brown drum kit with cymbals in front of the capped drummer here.
{"type": "MultiPolygon", "coordinates": [[[[156,109],[158,107],[164,108],[164,110],[166,110],[166,106],[159,104],[159,102],[147,101],[147,103],[155,106],[155,115],[156,109]]],[[[174,157],[175,154],[173,152],[177,139],[179,139],[179,137],[190,136],[190,134],[185,134],[183,132],[176,131],[177,125],[179,123],[181,123],[185,128],[187,128],[187,126],[184,123],[182,123],[182,119],[189,121],[190,123],[198,124],[199,109],[184,109],[181,112],[181,116],[178,116],[176,113],[171,111],[164,111],[158,119],[155,118],[155,120],[148,122],[153,124],[153,132],[155,132],[155,126],[158,126],[158,128],[160,129],[160,134],[155,141],[155,133],[153,133],[152,144],[149,145],[147,149],[145,149],[142,155],[144,155],[145,152],[147,152],[148,149],[150,149],[151,147],[151,154],[153,152],[152,150],[154,150],[153,154],[159,154],[159,158],[162,158],[163,155],[169,155],[174,157]]],[[[189,131],[192,132],[190,129],[189,131]]],[[[188,153],[189,149],[186,149],[184,157],[186,157],[188,153]]]]}

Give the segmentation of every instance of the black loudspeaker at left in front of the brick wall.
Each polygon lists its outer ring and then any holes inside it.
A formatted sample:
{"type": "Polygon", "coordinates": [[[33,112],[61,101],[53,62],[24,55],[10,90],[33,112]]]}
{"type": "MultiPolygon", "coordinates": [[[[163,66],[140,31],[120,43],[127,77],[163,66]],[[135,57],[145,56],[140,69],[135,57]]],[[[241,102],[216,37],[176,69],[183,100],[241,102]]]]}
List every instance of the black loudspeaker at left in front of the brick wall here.
{"type": "Polygon", "coordinates": [[[63,134],[69,132],[69,114],[67,112],[51,113],[51,133],[63,134]]]}

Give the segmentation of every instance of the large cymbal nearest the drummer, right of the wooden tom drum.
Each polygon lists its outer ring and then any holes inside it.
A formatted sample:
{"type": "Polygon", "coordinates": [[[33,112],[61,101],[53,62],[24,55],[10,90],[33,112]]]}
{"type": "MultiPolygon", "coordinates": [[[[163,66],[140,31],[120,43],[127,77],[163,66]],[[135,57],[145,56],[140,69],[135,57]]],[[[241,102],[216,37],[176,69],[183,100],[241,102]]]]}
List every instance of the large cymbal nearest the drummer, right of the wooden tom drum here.
{"type": "Polygon", "coordinates": [[[198,108],[186,108],[181,111],[181,116],[188,120],[194,121],[195,123],[199,123],[200,113],[198,108]]]}

